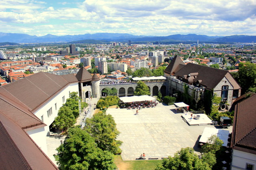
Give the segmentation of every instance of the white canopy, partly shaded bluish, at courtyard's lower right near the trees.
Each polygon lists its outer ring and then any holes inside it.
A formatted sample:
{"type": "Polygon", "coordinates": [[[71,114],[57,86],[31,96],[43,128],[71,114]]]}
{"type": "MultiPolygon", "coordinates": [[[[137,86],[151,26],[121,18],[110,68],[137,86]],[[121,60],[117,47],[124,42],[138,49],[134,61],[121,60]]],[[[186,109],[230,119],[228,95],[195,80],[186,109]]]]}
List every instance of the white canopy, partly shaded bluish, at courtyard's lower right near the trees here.
{"type": "Polygon", "coordinates": [[[214,128],[210,128],[210,127],[205,127],[204,132],[203,132],[199,142],[206,143],[208,138],[210,138],[210,136],[217,135],[219,137],[219,139],[223,141],[222,146],[227,147],[227,145],[228,145],[228,134],[229,134],[228,130],[214,129],[214,128]]]}

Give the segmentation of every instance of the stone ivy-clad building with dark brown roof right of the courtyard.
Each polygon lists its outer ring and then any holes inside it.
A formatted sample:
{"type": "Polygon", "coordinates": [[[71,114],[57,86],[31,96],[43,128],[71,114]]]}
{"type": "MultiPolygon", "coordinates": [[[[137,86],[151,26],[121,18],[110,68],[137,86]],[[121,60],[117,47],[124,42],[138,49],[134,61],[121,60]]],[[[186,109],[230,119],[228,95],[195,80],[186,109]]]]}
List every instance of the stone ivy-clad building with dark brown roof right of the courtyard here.
{"type": "Polygon", "coordinates": [[[178,91],[184,93],[188,87],[187,93],[195,100],[196,106],[200,99],[209,100],[209,94],[217,94],[221,97],[219,110],[230,110],[234,100],[241,95],[241,87],[230,72],[193,63],[185,65],[178,56],[164,74],[169,78],[170,95],[177,97],[178,91]]]}

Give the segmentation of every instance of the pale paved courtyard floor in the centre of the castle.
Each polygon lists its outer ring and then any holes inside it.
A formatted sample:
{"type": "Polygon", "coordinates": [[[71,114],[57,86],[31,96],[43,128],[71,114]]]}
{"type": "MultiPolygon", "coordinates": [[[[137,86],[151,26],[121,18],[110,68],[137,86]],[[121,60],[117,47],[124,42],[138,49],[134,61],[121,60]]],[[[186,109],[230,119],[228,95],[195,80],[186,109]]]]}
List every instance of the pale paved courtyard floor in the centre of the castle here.
{"type": "MultiPolygon", "coordinates": [[[[205,127],[213,125],[189,126],[181,117],[182,113],[174,113],[175,106],[158,104],[154,108],[142,108],[139,115],[136,109],[108,108],[121,132],[118,140],[121,145],[123,160],[135,160],[145,153],[150,156],[173,156],[184,147],[192,147],[196,151],[197,140],[205,127]]],[[[232,131],[232,128],[230,129],[232,131]]]]}

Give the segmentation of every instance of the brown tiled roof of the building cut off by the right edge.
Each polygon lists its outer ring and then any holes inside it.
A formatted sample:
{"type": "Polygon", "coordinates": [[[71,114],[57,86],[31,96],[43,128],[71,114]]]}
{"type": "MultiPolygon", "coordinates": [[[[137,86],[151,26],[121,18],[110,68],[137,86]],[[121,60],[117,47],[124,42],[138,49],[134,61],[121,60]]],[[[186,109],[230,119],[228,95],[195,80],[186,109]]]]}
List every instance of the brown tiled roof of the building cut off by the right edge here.
{"type": "Polygon", "coordinates": [[[233,149],[256,154],[256,95],[236,104],[231,139],[233,149]]]}

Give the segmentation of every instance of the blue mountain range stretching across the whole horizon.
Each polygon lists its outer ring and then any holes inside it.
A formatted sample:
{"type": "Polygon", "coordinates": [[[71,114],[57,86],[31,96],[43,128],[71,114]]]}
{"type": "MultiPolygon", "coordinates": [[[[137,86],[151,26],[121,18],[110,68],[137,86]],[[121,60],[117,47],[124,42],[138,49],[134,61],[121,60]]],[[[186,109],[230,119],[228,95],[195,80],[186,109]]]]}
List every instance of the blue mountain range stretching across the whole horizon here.
{"type": "Polygon", "coordinates": [[[197,34],[175,34],[169,36],[136,36],[132,34],[120,33],[96,33],[96,34],[80,34],[56,36],[47,34],[45,36],[31,36],[19,33],[0,32],[0,43],[106,43],[106,42],[154,42],[154,41],[212,41],[212,42],[240,42],[252,43],[256,42],[256,36],[233,35],[233,36],[206,36],[197,34]]]}

